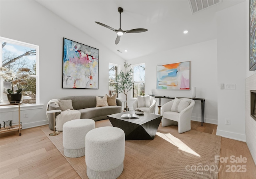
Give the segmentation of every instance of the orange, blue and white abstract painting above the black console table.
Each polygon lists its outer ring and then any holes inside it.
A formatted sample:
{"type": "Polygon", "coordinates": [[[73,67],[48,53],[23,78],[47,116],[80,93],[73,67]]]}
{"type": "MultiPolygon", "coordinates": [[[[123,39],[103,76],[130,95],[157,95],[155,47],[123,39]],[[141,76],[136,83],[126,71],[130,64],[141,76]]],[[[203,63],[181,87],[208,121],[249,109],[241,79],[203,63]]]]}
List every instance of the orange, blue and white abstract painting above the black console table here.
{"type": "Polygon", "coordinates": [[[157,66],[156,89],[190,90],[190,61],[157,66]]]}

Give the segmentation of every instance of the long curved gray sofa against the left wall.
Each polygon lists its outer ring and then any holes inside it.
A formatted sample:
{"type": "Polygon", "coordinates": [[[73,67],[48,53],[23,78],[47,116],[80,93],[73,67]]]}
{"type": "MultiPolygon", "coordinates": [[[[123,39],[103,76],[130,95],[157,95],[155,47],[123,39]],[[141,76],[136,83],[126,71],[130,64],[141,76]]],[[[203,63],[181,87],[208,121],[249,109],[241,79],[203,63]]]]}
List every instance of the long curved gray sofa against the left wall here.
{"type": "MultiPolygon", "coordinates": [[[[104,97],[104,96],[99,96],[104,97]]],[[[116,106],[102,106],[96,107],[95,95],[83,95],[83,96],[67,96],[59,99],[71,99],[73,108],[81,112],[81,119],[93,119],[99,121],[102,119],[108,119],[107,115],[122,112],[122,101],[116,99],[116,106]]],[[[60,109],[60,107],[54,103],[50,103],[48,111],[60,109]]],[[[60,112],[55,113],[55,117],[60,112]]],[[[48,114],[49,128],[53,130],[53,113],[48,114]]]]}

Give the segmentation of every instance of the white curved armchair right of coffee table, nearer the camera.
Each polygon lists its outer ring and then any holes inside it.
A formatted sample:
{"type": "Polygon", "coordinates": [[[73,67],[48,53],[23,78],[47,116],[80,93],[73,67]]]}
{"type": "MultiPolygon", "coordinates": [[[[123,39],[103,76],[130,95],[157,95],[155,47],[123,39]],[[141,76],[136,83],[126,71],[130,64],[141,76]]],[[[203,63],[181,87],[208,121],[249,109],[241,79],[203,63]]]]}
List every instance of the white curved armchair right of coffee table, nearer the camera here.
{"type": "Polygon", "coordinates": [[[194,105],[195,101],[188,98],[175,98],[162,105],[162,127],[178,124],[178,133],[190,131],[194,105]]]}

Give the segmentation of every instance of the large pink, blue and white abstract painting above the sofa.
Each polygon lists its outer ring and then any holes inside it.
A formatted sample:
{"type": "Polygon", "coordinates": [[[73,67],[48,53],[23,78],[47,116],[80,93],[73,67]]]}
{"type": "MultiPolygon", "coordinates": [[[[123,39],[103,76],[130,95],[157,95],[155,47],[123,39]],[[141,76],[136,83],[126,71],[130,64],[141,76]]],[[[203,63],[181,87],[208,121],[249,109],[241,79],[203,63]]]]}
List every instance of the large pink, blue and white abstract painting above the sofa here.
{"type": "Polygon", "coordinates": [[[62,88],[98,89],[98,49],[63,38],[62,63],[62,88]]]}

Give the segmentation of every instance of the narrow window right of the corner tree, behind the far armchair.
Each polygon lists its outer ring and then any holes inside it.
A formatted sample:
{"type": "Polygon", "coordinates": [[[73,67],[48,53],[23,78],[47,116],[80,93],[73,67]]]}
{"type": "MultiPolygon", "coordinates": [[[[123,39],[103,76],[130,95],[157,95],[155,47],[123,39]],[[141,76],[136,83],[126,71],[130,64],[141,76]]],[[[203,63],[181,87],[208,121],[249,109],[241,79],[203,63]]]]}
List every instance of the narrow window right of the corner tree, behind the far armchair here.
{"type": "Polygon", "coordinates": [[[133,97],[145,95],[145,64],[133,66],[133,97]]]}

